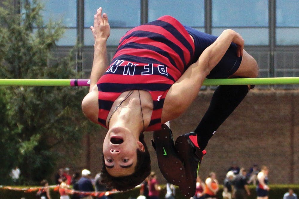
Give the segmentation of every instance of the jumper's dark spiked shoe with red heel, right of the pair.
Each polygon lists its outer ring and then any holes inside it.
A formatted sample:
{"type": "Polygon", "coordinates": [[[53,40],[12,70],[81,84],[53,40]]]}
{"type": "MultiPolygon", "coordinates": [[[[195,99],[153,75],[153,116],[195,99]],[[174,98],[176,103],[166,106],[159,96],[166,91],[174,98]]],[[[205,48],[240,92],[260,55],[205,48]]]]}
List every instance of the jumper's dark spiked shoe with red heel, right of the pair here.
{"type": "Polygon", "coordinates": [[[206,151],[199,149],[194,132],[179,136],[176,139],[176,149],[178,156],[183,160],[186,175],[186,183],[181,184],[179,188],[185,197],[190,198],[195,195],[198,169],[206,151]]]}

